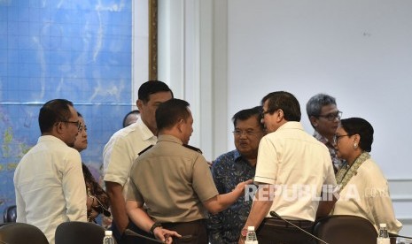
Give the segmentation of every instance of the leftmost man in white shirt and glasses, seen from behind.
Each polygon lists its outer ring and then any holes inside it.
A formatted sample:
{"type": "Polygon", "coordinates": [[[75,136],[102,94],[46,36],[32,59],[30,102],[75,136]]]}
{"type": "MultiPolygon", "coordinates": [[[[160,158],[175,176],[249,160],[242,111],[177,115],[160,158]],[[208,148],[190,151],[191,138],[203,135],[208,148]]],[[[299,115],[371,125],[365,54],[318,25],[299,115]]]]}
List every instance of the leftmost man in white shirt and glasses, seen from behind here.
{"type": "Polygon", "coordinates": [[[54,244],[59,224],[87,221],[86,188],[79,152],[80,121],[73,103],[55,99],[39,113],[42,136],[14,172],[17,222],[35,225],[54,244]]]}

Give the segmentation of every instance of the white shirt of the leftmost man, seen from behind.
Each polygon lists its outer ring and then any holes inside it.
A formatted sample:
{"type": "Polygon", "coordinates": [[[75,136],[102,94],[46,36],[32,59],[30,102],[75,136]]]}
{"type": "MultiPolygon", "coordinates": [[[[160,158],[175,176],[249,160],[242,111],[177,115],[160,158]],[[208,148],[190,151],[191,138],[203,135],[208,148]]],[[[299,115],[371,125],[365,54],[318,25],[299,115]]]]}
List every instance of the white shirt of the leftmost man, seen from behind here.
{"type": "Polygon", "coordinates": [[[59,224],[87,221],[79,152],[55,136],[39,138],[14,172],[17,222],[37,226],[51,244],[59,224]]]}

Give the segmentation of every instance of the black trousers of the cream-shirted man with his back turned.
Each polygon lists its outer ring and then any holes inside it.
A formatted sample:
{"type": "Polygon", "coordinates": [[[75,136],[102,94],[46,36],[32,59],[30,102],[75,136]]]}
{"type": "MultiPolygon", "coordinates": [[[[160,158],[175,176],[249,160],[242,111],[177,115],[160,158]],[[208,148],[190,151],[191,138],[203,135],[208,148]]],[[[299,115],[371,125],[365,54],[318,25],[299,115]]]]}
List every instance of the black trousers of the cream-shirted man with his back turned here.
{"type": "MultiPolygon", "coordinates": [[[[312,233],[313,222],[305,220],[288,220],[308,233],[312,233]]],[[[256,230],[259,244],[315,244],[314,238],[289,225],[282,219],[265,217],[256,230]]]]}

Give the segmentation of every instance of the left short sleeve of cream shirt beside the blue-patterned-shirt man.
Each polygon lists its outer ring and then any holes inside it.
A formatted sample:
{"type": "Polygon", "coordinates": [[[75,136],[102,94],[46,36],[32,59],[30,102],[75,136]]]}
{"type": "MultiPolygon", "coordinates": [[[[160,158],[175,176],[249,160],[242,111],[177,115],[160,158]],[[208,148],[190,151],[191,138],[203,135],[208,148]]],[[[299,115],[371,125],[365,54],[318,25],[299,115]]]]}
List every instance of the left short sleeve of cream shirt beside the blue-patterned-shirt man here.
{"type": "Polygon", "coordinates": [[[275,185],[277,174],[277,153],[274,143],[265,136],[260,140],[258,162],[254,181],[275,185]]]}

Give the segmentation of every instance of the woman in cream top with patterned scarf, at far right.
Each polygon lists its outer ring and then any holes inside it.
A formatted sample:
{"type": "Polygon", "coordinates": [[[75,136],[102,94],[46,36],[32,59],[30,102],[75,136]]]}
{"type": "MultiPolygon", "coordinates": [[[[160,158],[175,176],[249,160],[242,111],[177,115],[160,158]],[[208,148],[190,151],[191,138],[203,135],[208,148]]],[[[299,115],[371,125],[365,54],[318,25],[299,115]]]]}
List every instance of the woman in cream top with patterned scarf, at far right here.
{"type": "Polygon", "coordinates": [[[385,223],[390,233],[399,233],[402,224],[394,215],[387,180],[369,155],[373,132],[363,118],[341,119],[334,141],[346,166],[336,176],[340,198],[331,214],[364,217],[376,229],[385,223]]]}

